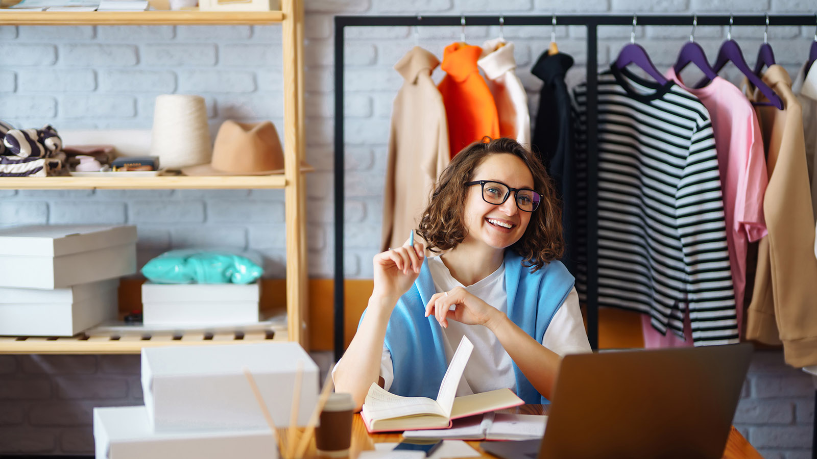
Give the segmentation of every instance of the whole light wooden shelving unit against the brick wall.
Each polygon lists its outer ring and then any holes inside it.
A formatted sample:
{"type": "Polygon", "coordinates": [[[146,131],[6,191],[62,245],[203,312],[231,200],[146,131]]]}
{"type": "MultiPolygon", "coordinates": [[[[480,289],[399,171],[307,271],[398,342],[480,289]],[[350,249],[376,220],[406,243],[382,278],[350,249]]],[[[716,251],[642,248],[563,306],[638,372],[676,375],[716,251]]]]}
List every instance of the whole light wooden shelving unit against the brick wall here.
{"type": "MultiPolygon", "coordinates": [[[[266,25],[281,23],[283,52],[284,163],[305,158],[303,102],[303,2],[282,0],[282,11],[0,11],[0,25],[266,25]]],[[[297,341],[307,347],[306,177],[298,172],[274,176],[154,177],[0,177],[0,189],[285,189],[287,264],[283,318],[275,325],[217,332],[104,332],[92,329],[72,337],[0,336],[0,354],[138,354],[146,346],[208,345],[247,341],[297,341]],[[179,334],[181,333],[181,334],[179,334]]]]}

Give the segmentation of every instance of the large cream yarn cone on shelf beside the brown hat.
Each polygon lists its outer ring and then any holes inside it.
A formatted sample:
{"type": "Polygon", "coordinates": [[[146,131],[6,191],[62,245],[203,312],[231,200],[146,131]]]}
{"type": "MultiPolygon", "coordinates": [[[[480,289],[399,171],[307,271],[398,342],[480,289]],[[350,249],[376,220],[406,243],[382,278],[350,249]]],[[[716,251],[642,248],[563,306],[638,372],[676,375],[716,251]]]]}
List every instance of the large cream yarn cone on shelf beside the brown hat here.
{"type": "Polygon", "coordinates": [[[163,94],[156,97],[150,154],[159,157],[159,167],[163,169],[210,162],[212,142],[202,96],[163,94]]]}

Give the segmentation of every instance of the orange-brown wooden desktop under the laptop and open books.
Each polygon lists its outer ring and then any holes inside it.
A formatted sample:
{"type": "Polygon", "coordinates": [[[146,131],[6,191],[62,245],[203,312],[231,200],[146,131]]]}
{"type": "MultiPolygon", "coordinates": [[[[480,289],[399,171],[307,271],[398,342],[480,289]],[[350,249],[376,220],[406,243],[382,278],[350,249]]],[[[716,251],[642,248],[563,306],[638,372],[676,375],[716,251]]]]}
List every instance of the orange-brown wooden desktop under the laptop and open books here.
{"type": "MultiPolygon", "coordinates": [[[[507,410],[500,410],[499,412],[516,412],[520,414],[547,414],[549,405],[523,405],[518,408],[511,408],[507,410]]],[[[286,438],[285,436],[283,438],[286,438]]],[[[352,444],[350,448],[350,459],[356,459],[361,451],[374,449],[374,443],[397,443],[402,439],[400,433],[389,434],[369,434],[360,419],[359,414],[355,414],[355,420],[352,423],[352,444]]],[[[482,452],[479,441],[467,442],[471,447],[477,451],[482,452]]],[[[487,452],[482,452],[482,457],[489,457],[496,459],[487,452]]],[[[315,452],[315,441],[310,444],[309,450],[306,452],[305,459],[317,459],[319,456],[315,452]]],[[[738,430],[732,427],[729,434],[729,439],[726,442],[726,449],[723,459],[763,459],[763,457],[749,444],[743,435],[738,430]]]]}

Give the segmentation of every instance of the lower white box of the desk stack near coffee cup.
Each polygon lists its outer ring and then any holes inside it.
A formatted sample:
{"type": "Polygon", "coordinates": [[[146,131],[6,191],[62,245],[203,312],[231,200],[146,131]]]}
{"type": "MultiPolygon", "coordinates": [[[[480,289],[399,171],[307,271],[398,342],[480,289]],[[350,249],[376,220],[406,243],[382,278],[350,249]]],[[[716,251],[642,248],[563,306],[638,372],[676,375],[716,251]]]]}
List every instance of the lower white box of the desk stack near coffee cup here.
{"type": "Polygon", "coordinates": [[[94,408],[96,459],[277,459],[269,428],[230,432],[158,433],[145,407],[94,408]]]}

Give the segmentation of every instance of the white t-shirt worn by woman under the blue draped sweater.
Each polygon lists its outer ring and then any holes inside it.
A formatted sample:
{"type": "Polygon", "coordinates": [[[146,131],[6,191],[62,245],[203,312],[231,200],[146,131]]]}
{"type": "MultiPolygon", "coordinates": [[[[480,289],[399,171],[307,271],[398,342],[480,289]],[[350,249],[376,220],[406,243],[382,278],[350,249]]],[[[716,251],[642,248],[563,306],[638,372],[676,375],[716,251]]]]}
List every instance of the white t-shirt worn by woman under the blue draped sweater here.
{"type": "MultiPolygon", "coordinates": [[[[431,279],[434,279],[434,288],[437,293],[448,292],[453,287],[465,287],[453,278],[439,256],[428,259],[428,268],[431,271],[431,279]]],[[[504,263],[488,277],[465,289],[480,300],[493,305],[503,314],[507,314],[504,263]]],[[[488,328],[449,320],[449,328],[443,329],[443,336],[445,357],[449,362],[462,336],[468,336],[468,339],[474,344],[474,351],[471,353],[471,359],[468,360],[457,390],[458,396],[478,394],[503,387],[516,390],[516,377],[511,356],[502,347],[497,336],[488,328]]],[[[587,341],[587,332],[584,331],[582,312],[578,308],[578,293],[575,287],[553,315],[550,325],[545,330],[545,336],[542,337],[542,345],[559,355],[592,351],[587,341]]],[[[386,345],[383,345],[380,376],[385,382],[384,389],[389,390],[395,379],[394,375],[391,353],[386,345]]]]}

